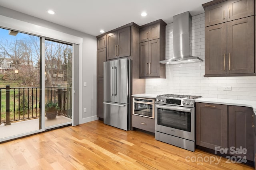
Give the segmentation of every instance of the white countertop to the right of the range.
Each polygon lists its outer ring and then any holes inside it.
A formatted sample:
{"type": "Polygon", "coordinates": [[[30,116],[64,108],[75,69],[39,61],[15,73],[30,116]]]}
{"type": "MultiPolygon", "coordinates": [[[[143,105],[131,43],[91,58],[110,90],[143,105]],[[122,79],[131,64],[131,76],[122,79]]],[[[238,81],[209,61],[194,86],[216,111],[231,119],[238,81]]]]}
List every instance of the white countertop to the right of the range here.
{"type": "Polygon", "coordinates": [[[199,99],[196,99],[196,102],[252,107],[254,113],[256,114],[256,101],[234,100],[234,99],[218,99],[218,98],[199,98],[199,99]]]}

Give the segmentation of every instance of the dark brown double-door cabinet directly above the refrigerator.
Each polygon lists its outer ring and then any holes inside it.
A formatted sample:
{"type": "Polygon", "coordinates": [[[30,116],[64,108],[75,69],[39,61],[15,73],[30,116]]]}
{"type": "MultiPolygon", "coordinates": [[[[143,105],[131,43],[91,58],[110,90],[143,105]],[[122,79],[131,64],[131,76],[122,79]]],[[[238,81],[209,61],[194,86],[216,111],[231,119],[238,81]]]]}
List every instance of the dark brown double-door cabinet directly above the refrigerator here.
{"type": "Polygon", "coordinates": [[[108,33],[107,60],[130,56],[130,27],[108,33]]]}

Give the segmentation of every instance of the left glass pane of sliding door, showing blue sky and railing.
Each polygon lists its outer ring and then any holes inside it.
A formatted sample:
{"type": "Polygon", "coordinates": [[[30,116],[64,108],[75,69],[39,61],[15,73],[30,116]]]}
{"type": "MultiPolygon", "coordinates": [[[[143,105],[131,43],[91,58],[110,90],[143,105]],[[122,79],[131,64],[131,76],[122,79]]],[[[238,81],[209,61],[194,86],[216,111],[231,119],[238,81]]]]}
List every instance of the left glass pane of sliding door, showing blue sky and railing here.
{"type": "Polygon", "coordinates": [[[41,129],[39,86],[40,37],[0,28],[0,140],[41,129]]]}

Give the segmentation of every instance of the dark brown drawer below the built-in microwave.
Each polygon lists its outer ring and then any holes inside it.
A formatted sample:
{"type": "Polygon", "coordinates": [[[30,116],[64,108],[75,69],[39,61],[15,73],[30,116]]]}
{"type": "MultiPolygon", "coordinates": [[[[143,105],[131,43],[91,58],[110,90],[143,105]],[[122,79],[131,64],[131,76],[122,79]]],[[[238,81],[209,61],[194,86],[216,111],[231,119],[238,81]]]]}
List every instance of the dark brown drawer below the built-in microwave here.
{"type": "Polygon", "coordinates": [[[132,115],[132,127],[155,133],[155,119],[132,115]]]}

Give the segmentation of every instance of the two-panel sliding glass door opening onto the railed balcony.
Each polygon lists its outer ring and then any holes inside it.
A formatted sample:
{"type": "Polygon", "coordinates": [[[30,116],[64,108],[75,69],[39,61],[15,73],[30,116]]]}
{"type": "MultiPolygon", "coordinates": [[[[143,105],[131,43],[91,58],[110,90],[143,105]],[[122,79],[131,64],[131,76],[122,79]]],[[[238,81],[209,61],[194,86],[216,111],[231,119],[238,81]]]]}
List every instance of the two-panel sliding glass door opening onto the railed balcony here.
{"type": "Polygon", "coordinates": [[[72,124],[72,64],[72,44],[0,28],[0,142],[72,124]]]}

